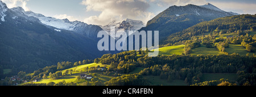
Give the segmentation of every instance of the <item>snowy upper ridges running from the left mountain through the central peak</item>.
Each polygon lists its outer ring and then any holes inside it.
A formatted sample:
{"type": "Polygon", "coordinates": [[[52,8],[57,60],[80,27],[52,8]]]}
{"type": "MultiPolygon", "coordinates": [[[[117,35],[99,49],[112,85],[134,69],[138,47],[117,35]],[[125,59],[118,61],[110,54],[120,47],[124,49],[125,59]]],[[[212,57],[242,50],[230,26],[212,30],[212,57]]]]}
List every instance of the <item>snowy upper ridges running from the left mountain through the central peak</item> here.
{"type": "MultiPolygon", "coordinates": [[[[82,35],[94,37],[94,39],[97,38],[97,33],[99,31],[107,31],[110,33],[110,27],[115,26],[115,32],[120,31],[136,31],[138,29],[141,29],[144,26],[144,23],[139,20],[132,20],[132,19],[126,19],[122,22],[118,22],[117,20],[113,20],[106,26],[96,26],[92,24],[86,24],[84,22],[74,21],[70,22],[68,19],[56,19],[52,17],[47,17],[42,14],[37,14],[32,11],[24,11],[22,7],[14,7],[10,9],[11,11],[14,11],[16,15],[21,16],[23,18],[28,19],[29,17],[34,17],[33,19],[39,19],[39,21],[46,25],[55,27],[55,31],[61,32],[62,29],[73,31],[77,33],[81,33],[82,35]]],[[[2,16],[2,14],[1,14],[2,16]]],[[[4,17],[3,15],[2,17],[4,17]]],[[[13,16],[13,19],[16,19],[17,16],[13,16]]]]}

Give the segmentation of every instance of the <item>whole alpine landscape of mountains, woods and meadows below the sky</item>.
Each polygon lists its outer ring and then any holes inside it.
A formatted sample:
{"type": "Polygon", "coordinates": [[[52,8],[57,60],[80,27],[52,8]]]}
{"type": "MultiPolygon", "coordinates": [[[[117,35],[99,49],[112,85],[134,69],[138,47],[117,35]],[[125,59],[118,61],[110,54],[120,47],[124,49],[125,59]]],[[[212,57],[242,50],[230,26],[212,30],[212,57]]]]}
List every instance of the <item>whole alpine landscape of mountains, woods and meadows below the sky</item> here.
{"type": "Polygon", "coordinates": [[[97,26],[0,2],[0,85],[255,86],[255,54],[256,15],[210,3],[170,6],[147,24],[97,26]],[[99,51],[97,33],[110,34],[112,26],[115,33],[159,31],[159,56],[148,57],[148,49],[99,51]]]}

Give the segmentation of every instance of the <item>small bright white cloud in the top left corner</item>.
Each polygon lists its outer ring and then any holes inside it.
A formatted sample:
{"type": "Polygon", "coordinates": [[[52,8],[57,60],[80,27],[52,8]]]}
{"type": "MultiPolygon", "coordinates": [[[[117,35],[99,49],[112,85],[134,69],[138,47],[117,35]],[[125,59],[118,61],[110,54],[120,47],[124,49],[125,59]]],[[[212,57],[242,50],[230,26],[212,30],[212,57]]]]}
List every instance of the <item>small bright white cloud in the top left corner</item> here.
{"type": "Polygon", "coordinates": [[[25,11],[29,11],[27,7],[27,1],[29,0],[2,0],[6,3],[7,7],[13,8],[13,7],[22,7],[25,11]]]}

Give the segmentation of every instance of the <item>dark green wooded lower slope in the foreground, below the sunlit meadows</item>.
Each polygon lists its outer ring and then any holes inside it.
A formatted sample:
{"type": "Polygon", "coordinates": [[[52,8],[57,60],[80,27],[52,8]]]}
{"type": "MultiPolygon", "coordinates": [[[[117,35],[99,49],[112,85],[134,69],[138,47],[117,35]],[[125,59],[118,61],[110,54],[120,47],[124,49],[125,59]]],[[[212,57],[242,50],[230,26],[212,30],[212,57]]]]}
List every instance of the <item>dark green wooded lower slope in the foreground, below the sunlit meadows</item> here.
{"type": "MultiPolygon", "coordinates": [[[[159,77],[161,80],[173,82],[176,80],[184,81],[187,85],[201,85],[202,75],[205,73],[229,73],[237,74],[237,79],[221,80],[217,83],[210,85],[218,85],[221,82],[229,82],[232,85],[255,85],[256,73],[256,56],[246,57],[239,54],[230,55],[208,55],[208,56],[184,56],[184,55],[171,55],[171,56],[158,56],[147,57],[147,54],[137,54],[136,51],[122,52],[118,54],[105,54],[101,58],[97,58],[94,62],[101,62],[101,64],[108,67],[106,70],[97,70],[96,66],[88,69],[80,69],[80,71],[72,71],[78,74],[94,74],[92,80],[82,80],[80,75],[77,75],[77,80],[72,81],[72,85],[154,85],[151,79],[145,79],[148,76],[159,77]],[[144,68],[132,73],[137,68],[144,68]],[[131,74],[132,73],[132,74],[131,74]],[[112,76],[114,78],[108,79],[109,81],[102,82],[102,76],[112,76]],[[97,84],[97,83],[99,84],[97,84]]],[[[63,66],[66,62],[64,62],[63,66]]],[[[60,64],[61,65],[61,64],[60,64]]],[[[79,65],[79,64],[77,64],[79,65]]],[[[73,67],[75,64],[71,63],[69,66],[73,67]]],[[[100,66],[97,66],[100,67],[100,66]]],[[[63,79],[69,78],[69,74],[61,73],[59,68],[51,66],[44,69],[39,69],[33,74],[22,74],[24,79],[31,81],[34,79],[63,79]],[[58,74],[57,78],[51,78],[52,74],[58,74]]],[[[54,81],[54,80],[52,80],[54,81]]],[[[55,83],[54,83],[55,84],[55,83]]],[[[71,83],[66,83],[71,85],[71,83]]],[[[26,83],[26,85],[47,85],[37,83],[26,83]]],[[[57,85],[57,84],[56,84],[57,85]]]]}

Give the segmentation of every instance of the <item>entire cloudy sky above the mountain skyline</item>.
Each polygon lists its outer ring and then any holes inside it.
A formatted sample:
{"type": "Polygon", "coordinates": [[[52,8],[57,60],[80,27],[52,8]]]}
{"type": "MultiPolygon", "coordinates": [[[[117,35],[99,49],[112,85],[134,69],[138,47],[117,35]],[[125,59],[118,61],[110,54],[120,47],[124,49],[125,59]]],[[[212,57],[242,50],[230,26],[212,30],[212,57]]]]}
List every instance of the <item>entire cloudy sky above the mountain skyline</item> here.
{"type": "Polygon", "coordinates": [[[23,7],[59,19],[79,20],[105,26],[112,20],[126,18],[147,23],[172,5],[205,5],[211,3],[224,10],[239,14],[256,14],[255,0],[1,0],[9,8],[23,7]]]}

